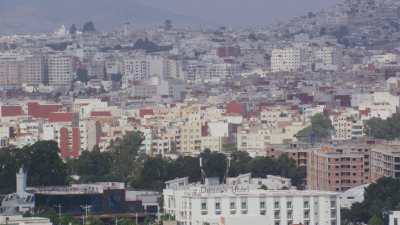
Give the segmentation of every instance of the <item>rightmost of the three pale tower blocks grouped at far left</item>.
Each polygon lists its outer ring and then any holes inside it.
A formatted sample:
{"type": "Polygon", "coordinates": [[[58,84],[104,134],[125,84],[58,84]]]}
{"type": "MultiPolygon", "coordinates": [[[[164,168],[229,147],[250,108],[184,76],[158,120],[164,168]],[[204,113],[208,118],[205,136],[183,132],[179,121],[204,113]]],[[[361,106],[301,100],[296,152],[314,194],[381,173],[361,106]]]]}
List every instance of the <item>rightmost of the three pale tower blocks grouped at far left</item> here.
{"type": "Polygon", "coordinates": [[[70,86],[73,80],[72,58],[65,54],[50,54],[47,59],[50,86],[70,86]]]}

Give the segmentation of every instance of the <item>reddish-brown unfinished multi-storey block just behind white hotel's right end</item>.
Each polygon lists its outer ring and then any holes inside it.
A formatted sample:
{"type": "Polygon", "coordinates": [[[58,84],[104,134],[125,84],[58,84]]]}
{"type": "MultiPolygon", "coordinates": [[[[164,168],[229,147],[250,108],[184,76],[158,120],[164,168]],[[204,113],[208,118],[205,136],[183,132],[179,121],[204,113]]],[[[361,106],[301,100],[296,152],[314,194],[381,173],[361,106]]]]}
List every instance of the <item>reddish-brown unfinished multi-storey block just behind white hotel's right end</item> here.
{"type": "Polygon", "coordinates": [[[364,145],[323,146],[309,153],[307,186],[346,191],[371,181],[371,149],[364,145]]]}

